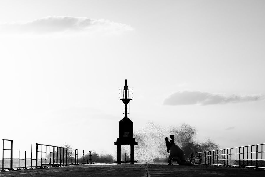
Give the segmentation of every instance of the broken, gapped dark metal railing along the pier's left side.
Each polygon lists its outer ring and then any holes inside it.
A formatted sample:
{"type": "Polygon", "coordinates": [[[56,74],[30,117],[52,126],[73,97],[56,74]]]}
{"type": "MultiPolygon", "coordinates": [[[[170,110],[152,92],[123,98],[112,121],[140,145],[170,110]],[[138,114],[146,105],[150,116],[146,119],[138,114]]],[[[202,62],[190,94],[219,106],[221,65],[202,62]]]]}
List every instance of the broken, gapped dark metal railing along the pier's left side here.
{"type": "Polygon", "coordinates": [[[27,152],[25,151],[25,158],[20,158],[20,151],[18,153],[18,158],[13,158],[13,140],[3,139],[3,150],[2,150],[2,168],[0,171],[5,170],[20,170],[20,169],[28,169],[28,168],[44,168],[44,167],[52,167],[52,166],[67,166],[67,165],[84,165],[84,164],[92,164],[92,151],[88,153],[88,159],[84,159],[84,151],[83,151],[83,163],[78,163],[78,149],[75,150],[75,159],[77,157],[77,162],[72,163],[68,159],[67,163],[67,149],[64,147],[53,146],[53,145],[44,145],[36,143],[36,158],[32,158],[32,144],[31,144],[31,158],[27,158],[27,152]],[[4,148],[4,142],[10,142],[10,148],[4,148]],[[10,151],[9,153],[5,153],[5,151],[10,151]],[[48,154],[47,154],[48,153],[48,154]],[[4,158],[6,155],[9,155],[10,158],[4,158]],[[10,161],[9,161],[10,160],[10,161]],[[14,162],[14,160],[18,161],[18,163],[14,162]],[[22,160],[23,166],[21,166],[20,161],[22,160]],[[30,163],[29,163],[30,160],[30,163]],[[32,160],[35,160],[35,165],[32,166],[32,160]],[[6,165],[9,165],[6,167],[6,165]]]}

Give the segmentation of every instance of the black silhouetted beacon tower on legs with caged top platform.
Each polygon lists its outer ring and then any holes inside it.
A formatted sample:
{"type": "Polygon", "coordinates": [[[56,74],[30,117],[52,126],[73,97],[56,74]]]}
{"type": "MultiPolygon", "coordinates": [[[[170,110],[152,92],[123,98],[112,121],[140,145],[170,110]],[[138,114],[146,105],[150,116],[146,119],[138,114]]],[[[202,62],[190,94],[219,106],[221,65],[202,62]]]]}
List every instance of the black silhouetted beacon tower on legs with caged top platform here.
{"type": "Polygon", "coordinates": [[[133,138],[133,122],[127,117],[129,112],[129,102],[133,97],[133,90],[128,89],[127,79],[125,79],[124,89],[119,90],[120,100],[123,102],[124,118],[119,122],[119,138],[114,142],[117,145],[117,163],[121,163],[121,145],[131,145],[131,163],[134,163],[134,145],[137,145],[133,138]]]}

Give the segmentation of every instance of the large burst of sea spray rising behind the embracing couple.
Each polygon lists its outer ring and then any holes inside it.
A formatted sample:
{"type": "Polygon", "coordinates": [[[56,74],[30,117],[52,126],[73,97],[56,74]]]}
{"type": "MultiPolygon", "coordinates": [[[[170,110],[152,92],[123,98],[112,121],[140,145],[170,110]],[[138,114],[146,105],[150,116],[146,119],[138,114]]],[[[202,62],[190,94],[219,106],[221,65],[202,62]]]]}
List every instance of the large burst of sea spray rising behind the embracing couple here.
{"type": "Polygon", "coordinates": [[[219,146],[212,140],[196,142],[196,129],[188,124],[179,127],[163,128],[154,122],[148,122],[142,131],[136,131],[134,138],[138,142],[135,146],[135,159],[138,161],[166,161],[168,152],[165,146],[165,137],[175,136],[175,144],[185,152],[186,159],[190,153],[219,149],[219,146]]]}

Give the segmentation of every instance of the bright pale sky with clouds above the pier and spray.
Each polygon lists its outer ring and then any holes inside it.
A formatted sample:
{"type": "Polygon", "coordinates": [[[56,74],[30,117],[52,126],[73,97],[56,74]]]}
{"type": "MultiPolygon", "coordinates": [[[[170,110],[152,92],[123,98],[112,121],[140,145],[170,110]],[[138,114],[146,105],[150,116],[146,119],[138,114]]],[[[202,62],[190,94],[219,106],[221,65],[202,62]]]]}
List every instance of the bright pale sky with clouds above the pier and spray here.
{"type": "MultiPolygon", "coordinates": [[[[115,153],[186,123],[221,148],[264,143],[264,1],[0,1],[0,138],[115,153]]],[[[1,155],[0,155],[1,157],[1,155]]]]}

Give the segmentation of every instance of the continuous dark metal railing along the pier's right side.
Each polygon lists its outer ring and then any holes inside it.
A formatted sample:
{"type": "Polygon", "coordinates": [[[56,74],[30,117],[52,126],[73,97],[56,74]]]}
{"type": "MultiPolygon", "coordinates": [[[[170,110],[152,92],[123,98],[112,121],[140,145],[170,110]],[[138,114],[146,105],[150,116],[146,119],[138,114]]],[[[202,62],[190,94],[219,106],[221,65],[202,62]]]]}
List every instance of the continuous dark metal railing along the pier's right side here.
{"type": "Polygon", "coordinates": [[[265,143],[191,153],[191,162],[203,165],[224,165],[265,168],[265,143]]]}

